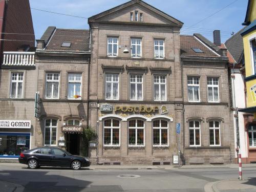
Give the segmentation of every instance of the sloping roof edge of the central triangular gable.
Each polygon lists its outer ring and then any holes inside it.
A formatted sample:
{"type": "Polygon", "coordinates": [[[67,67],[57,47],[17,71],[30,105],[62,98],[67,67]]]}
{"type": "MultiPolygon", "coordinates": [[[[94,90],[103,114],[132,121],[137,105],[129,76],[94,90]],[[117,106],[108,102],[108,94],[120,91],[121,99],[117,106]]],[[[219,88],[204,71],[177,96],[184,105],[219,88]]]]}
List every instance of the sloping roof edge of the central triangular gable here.
{"type": "Polygon", "coordinates": [[[93,20],[97,20],[100,17],[103,17],[103,16],[106,16],[106,15],[112,14],[114,12],[120,11],[121,9],[124,9],[126,7],[132,6],[134,4],[138,4],[138,5],[141,5],[141,6],[145,7],[145,8],[147,8],[147,9],[150,9],[150,10],[156,12],[157,14],[165,17],[166,19],[172,21],[173,23],[175,23],[178,26],[182,26],[183,25],[183,23],[180,20],[178,20],[178,19],[176,19],[176,18],[174,18],[174,17],[172,17],[172,16],[162,12],[161,10],[159,10],[159,9],[157,9],[157,8],[155,8],[155,7],[149,5],[149,4],[147,4],[147,3],[145,3],[145,2],[143,2],[141,0],[132,0],[130,2],[124,3],[122,5],[114,7],[112,9],[109,9],[109,10],[106,10],[104,12],[101,12],[101,13],[99,13],[97,15],[91,16],[90,18],[88,18],[88,23],[90,23],[93,20]]]}

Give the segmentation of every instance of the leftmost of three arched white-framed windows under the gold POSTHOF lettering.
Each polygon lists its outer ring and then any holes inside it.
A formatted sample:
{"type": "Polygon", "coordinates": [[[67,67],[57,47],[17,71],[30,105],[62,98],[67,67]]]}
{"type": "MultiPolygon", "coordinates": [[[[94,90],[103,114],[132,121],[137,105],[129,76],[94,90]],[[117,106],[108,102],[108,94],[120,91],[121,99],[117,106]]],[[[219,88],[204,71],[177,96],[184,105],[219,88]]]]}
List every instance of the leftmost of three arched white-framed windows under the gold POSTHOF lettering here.
{"type": "Polygon", "coordinates": [[[117,119],[106,119],[103,126],[104,146],[120,146],[120,121],[117,119]]]}

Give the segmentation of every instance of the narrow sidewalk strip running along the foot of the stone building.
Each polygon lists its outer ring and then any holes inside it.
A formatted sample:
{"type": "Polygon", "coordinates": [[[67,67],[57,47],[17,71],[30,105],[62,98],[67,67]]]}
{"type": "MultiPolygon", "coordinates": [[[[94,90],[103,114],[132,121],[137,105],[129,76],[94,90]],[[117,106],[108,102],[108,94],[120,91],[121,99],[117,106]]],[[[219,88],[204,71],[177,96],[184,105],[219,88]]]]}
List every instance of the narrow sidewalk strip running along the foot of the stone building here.
{"type": "MultiPolygon", "coordinates": [[[[26,167],[20,163],[0,163],[0,166],[26,167]]],[[[224,165],[183,165],[180,168],[235,168],[238,164],[224,165]]],[[[243,167],[256,167],[256,164],[243,164],[243,167]]],[[[87,168],[87,167],[84,167],[87,168]]],[[[91,165],[90,169],[177,169],[176,165],[91,165]]]]}

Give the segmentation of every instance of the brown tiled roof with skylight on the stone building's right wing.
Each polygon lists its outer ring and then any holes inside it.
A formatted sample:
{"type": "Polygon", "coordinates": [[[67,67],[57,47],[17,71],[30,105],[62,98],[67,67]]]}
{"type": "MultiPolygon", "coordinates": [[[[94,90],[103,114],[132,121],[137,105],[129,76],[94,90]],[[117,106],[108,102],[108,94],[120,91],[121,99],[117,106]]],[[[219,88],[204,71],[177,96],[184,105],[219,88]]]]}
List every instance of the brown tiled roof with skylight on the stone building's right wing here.
{"type": "Polygon", "coordinates": [[[180,35],[181,56],[220,57],[218,53],[211,50],[211,48],[208,45],[206,45],[204,42],[202,42],[197,36],[195,34],[180,35]],[[200,50],[202,50],[202,53],[195,52],[193,48],[199,48],[200,50]]]}

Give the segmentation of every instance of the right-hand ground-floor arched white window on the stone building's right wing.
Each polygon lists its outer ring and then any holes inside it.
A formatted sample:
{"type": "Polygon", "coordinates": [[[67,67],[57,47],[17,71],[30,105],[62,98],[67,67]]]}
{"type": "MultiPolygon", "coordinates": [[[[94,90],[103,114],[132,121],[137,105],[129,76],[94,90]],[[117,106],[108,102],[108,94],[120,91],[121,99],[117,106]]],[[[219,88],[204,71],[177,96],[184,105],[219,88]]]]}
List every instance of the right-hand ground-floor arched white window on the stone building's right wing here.
{"type": "Polygon", "coordinates": [[[210,145],[220,146],[221,145],[220,122],[210,121],[209,130],[210,130],[210,145]]]}

